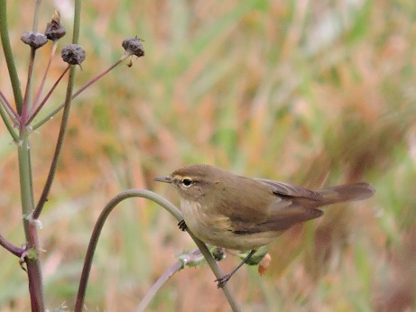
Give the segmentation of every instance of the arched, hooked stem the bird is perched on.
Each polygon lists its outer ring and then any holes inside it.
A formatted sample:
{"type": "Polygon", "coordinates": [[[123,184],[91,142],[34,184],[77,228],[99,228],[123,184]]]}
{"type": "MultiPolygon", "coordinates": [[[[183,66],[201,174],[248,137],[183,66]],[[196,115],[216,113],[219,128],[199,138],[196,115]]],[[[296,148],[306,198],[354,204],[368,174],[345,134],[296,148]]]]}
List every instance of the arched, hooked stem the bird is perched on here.
{"type": "MultiPolygon", "coordinates": [[[[165,208],[169,213],[171,213],[172,216],[174,216],[178,221],[181,221],[183,218],[180,214],[179,209],[171,204],[170,201],[165,199],[164,197],[153,193],[150,190],[145,189],[127,189],[124,192],[121,192],[117,194],[115,197],[113,197],[104,207],[103,211],[101,212],[100,216],[98,216],[97,223],[94,226],[94,230],[91,234],[91,238],[89,240],[88,244],[88,250],[84,261],[84,267],[82,269],[81,278],[79,280],[79,290],[77,294],[77,300],[75,303],[75,312],[82,311],[82,308],[84,306],[84,300],[85,300],[85,294],[88,284],[88,277],[89,272],[91,271],[91,265],[92,265],[92,259],[94,257],[94,252],[96,251],[97,243],[99,235],[101,234],[101,230],[103,229],[104,224],[106,223],[106,218],[108,215],[113,211],[113,209],[123,200],[131,197],[143,197],[152,200],[156,204],[162,206],[165,208]]],[[[221,271],[219,271],[219,268],[217,266],[217,262],[213,258],[212,254],[208,251],[207,246],[205,243],[201,242],[198,238],[195,237],[195,235],[191,234],[190,231],[188,231],[190,234],[190,237],[194,240],[194,242],[199,247],[199,250],[204,255],[206,261],[208,262],[211,269],[214,271],[214,274],[217,278],[221,278],[223,275],[221,271]]],[[[226,294],[226,298],[228,299],[228,303],[230,307],[233,309],[233,311],[240,311],[240,308],[238,307],[236,303],[236,299],[231,294],[227,286],[223,288],[224,293],[226,294]]]]}

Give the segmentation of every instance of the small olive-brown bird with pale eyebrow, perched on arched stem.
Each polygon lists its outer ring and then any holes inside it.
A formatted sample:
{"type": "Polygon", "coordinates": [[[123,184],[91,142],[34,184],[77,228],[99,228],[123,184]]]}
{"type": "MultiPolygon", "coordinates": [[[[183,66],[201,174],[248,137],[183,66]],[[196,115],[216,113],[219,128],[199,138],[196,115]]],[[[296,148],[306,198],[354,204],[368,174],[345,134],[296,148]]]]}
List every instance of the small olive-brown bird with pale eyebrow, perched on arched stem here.
{"type": "Polygon", "coordinates": [[[237,176],[217,167],[195,164],[156,181],[171,183],[180,195],[187,227],[201,241],[218,247],[251,251],[234,271],[216,280],[221,288],[254,252],[292,225],[322,216],[318,208],[372,197],[367,183],[316,191],[270,179],[237,176]]]}

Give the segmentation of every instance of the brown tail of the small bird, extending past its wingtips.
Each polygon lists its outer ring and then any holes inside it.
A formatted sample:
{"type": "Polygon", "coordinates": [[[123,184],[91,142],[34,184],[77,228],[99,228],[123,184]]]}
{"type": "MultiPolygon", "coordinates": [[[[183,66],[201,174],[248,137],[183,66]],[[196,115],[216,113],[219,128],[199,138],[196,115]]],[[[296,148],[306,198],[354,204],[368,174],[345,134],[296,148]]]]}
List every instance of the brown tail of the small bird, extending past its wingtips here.
{"type": "Polygon", "coordinates": [[[364,200],[372,197],[374,191],[374,188],[368,183],[355,183],[338,185],[333,188],[322,188],[318,192],[324,198],[323,205],[330,205],[347,201],[364,200]]]}

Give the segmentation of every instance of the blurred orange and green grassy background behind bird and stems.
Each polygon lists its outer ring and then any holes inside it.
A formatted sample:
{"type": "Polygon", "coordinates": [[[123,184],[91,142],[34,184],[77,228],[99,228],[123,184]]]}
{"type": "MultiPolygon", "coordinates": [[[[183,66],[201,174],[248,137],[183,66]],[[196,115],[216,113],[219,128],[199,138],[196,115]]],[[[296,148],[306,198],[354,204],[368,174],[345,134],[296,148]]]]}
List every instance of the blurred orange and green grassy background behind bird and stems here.
{"type": "MultiPolygon", "coordinates": [[[[22,84],[32,2],[10,2],[22,84]]],[[[44,1],[40,31],[60,10],[71,40],[72,2],[44,1]]],[[[388,1],[86,1],[79,43],[81,87],[118,60],[121,42],[145,56],[81,94],[40,232],[49,308],[73,309],[89,235],[106,202],[148,188],[179,204],[153,177],[195,163],[308,188],[367,181],[374,198],[328,207],[270,246],[260,277],[230,280],[245,311],[410,311],[416,308],[416,5],[388,1]]],[[[51,43],[38,53],[37,85],[51,43]],[[48,48],[46,48],[48,47],[48,48]]],[[[65,68],[59,53],[46,86],[65,68]]],[[[13,101],[5,59],[0,88],[13,101]]],[[[76,90],[78,89],[76,87],[76,90]]],[[[60,105],[57,89],[43,115],[60,105]]],[[[41,117],[37,120],[39,121],[41,117]]],[[[60,115],[32,134],[36,200],[60,115]]],[[[0,228],[23,243],[16,149],[0,126],[0,228]]],[[[130,311],[175,255],[195,248],[161,207],[131,199],[109,217],[93,262],[86,307],[130,311]]],[[[0,310],[30,308],[17,259],[0,251],[0,310]]],[[[239,262],[219,263],[230,271],[239,262]]],[[[174,275],[149,310],[229,311],[207,265],[174,275]]]]}

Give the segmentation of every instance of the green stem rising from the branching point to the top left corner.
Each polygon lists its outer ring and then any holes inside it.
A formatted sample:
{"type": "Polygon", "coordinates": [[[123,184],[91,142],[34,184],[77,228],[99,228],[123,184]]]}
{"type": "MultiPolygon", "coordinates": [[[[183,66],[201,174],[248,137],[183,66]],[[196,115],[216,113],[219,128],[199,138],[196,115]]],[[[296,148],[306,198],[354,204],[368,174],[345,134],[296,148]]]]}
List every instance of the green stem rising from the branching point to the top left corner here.
{"type": "Polygon", "coordinates": [[[17,76],[16,66],[14,64],[14,56],[12,47],[10,45],[9,32],[7,29],[7,1],[0,0],[0,37],[2,39],[3,51],[5,52],[5,63],[9,71],[10,81],[14,93],[14,102],[16,103],[16,110],[19,115],[22,114],[23,96],[20,89],[20,81],[17,76]]]}

